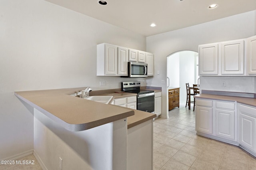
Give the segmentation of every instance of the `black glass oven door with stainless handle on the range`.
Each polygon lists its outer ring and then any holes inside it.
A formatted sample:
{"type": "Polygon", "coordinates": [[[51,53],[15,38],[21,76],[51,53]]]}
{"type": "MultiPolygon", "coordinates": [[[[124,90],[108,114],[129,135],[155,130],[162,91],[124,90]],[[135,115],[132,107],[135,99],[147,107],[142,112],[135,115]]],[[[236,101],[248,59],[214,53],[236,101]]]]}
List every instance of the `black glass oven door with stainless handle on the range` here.
{"type": "Polygon", "coordinates": [[[137,110],[154,113],[155,93],[137,95],[137,110]]]}

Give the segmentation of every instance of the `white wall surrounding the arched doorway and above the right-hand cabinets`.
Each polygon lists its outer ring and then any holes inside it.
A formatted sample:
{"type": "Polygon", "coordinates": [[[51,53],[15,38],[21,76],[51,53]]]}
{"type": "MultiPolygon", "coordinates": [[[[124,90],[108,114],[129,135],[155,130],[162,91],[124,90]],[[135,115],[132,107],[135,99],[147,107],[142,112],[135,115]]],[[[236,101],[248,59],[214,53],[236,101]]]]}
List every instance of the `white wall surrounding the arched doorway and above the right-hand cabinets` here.
{"type": "MultiPolygon", "coordinates": [[[[255,34],[255,11],[206,22],[196,26],[147,37],[147,51],[154,53],[154,71],[160,75],[147,79],[147,84],[162,87],[162,117],[168,117],[166,84],[166,57],[182,50],[198,51],[198,45],[247,38],[255,34]]],[[[234,77],[240,85],[239,77],[234,77]]],[[[247,83],[253,83],[250,80],[247,83]]],[[[243,85],[242,83],[241,85],[243,85]]],[[[200,87],[202,79],[200,78],[200,87]]],[[[207,89],[207,87],[205,88],[207,89]]]]}

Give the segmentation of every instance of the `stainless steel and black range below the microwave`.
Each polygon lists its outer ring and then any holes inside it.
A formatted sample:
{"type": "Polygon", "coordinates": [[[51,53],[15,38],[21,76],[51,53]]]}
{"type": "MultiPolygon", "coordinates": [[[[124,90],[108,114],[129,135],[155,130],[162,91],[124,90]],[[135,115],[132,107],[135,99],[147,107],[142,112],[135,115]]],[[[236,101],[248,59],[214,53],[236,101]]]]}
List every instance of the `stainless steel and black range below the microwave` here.
{"type": "Polygon", "coordinates": [[[137,110],[154,113],[155,93],[152,90],[140,89],[140,81],[121,82],[122,91],[137,93],[137,110]]]}

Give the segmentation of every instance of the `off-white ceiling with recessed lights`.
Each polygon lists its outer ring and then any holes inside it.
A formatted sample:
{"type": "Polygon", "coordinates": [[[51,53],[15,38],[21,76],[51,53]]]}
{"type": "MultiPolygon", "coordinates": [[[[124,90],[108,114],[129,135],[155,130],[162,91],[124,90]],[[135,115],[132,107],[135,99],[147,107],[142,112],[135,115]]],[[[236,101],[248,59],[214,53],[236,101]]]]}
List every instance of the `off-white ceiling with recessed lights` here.
{"type": "Polygon", "coordinates": [[[46,0],[143,36],[256,10],[256,0],[46,0]],[[208,9],[218,4],[215,9],[208,9]],[[150,27],[155,23],[156,27],[150,27]]]}

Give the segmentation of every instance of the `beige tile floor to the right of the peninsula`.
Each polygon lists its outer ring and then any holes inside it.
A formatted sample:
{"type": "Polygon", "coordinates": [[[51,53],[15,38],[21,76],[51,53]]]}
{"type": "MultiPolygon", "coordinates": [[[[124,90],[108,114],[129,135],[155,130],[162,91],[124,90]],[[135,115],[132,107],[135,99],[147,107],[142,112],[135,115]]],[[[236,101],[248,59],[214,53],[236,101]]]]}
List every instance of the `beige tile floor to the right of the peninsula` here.
{"type": "Polygon", "coordinates": [[[241,148],[196,135],[195,113],[180,104],[154,121],[154,170],[256,170],[241,148]]]}

